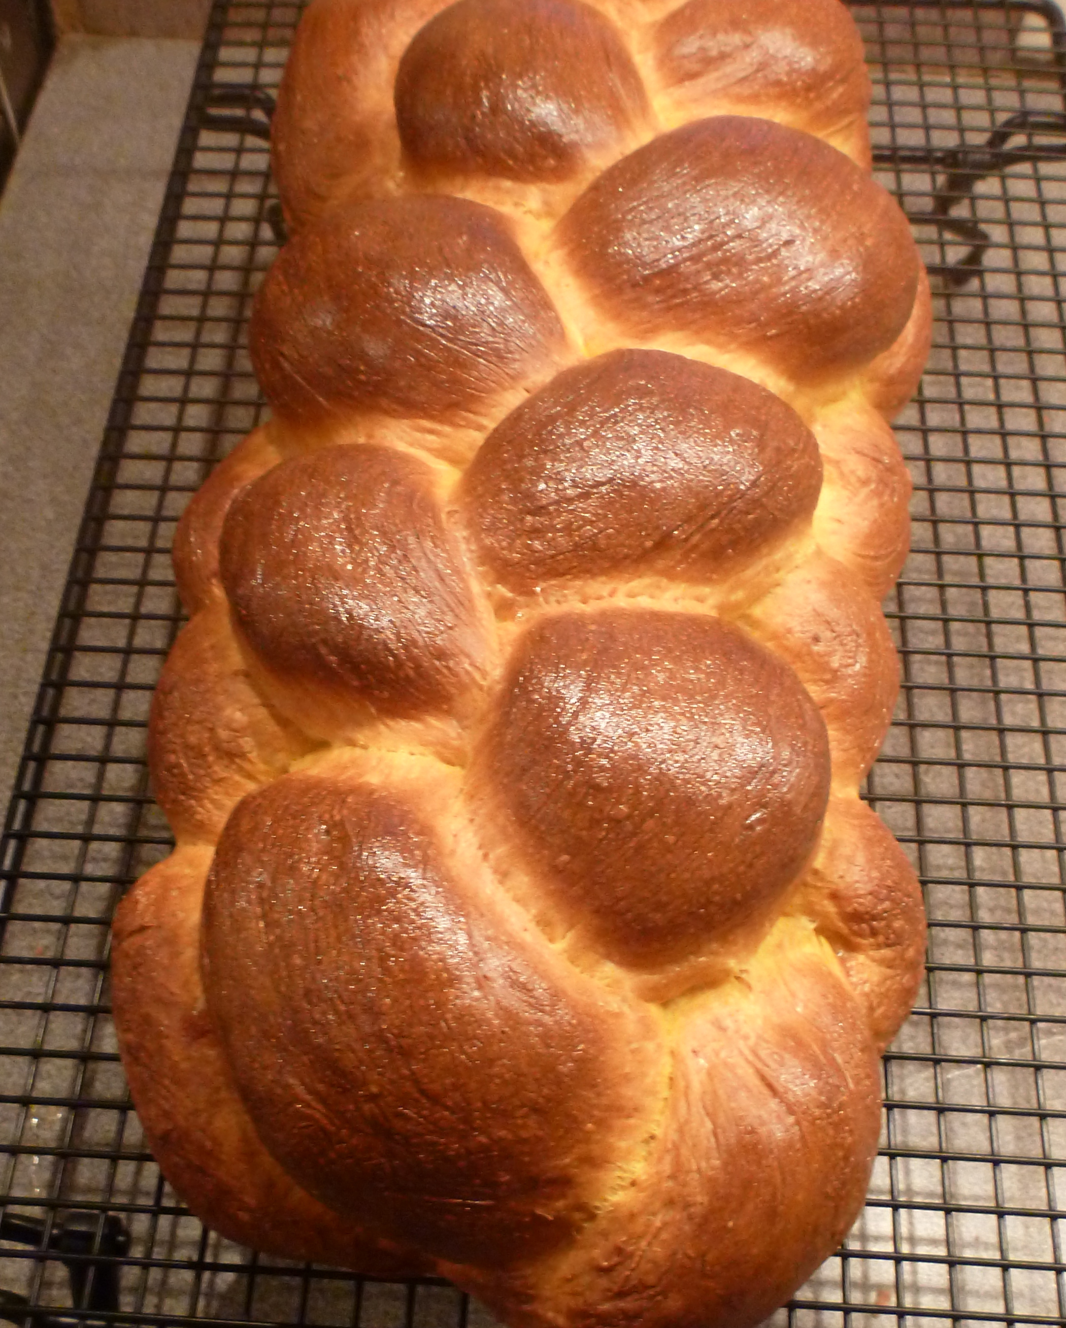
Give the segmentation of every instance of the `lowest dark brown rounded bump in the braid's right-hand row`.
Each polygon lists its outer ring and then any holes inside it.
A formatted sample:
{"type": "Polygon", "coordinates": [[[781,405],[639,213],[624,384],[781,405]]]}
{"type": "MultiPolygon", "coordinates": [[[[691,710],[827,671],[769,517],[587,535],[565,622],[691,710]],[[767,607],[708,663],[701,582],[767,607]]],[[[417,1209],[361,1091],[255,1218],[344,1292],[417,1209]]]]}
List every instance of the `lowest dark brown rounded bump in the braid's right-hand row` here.
{"type": "Polygon", "coordinates": [[[644,968],[777,903],[828,781],[787,665],[714,618],[629,608],[530,628],[474,786],[564,918],[644,968]]]}

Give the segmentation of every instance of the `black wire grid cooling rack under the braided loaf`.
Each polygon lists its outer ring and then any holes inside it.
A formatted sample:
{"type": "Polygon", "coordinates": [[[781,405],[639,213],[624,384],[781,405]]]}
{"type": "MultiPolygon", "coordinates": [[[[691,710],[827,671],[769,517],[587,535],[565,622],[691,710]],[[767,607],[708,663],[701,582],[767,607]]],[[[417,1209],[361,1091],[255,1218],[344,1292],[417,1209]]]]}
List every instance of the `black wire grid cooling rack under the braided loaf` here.
{"type": "MultiPolygon", "coordinates": [[[[108,1015],[112,908],[170,842],[143,725],[179,625],[174,522],[262,413],[244,332],[275,254],[267,151],[203,117],[242,101],[219,89],[276,86],[299,9],[216,0],[4,841],[0,1316],[45,1328],[491,1323],[439,1283],[267,1262],[204,1232],[145,1150],[108,1015]]],[[[932,264],[970,264],[966,284],[939,283],[933,359],[899,430],[916,483],[891,604],[905,680],[870,781],[925,886],[929,976],[885,1058],[868,1206],[775,1321],[1058,1324],[1066,36],[1038,3],[855,13],[883,178],[932,264]],[[1025,126],[1013,155],[931,161],[1005,122],[1025,126]]]]}

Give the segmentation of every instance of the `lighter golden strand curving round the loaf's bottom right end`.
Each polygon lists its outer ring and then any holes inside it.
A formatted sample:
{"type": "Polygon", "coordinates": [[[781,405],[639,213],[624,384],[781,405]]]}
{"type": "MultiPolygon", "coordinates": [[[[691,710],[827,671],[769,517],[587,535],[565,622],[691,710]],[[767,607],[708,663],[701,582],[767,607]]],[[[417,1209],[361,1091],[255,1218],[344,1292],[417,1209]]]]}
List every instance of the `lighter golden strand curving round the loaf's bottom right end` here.
{"type": "Polygon", "coordinates": [[[826,948],[802,927],[778,935],[682,1016],[645,1165],[546,1274],[462,1270],[490,1308],[552,1328],[750,1328],[827,1258],[863,1202],[880,1104],[826,948]]]}

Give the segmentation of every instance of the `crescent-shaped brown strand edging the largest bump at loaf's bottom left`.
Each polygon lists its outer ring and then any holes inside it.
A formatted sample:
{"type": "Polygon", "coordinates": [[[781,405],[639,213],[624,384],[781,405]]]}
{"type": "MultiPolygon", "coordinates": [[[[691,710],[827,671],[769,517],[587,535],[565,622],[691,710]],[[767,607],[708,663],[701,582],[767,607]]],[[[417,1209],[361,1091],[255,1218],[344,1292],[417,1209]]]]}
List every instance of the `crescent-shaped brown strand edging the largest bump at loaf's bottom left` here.
{"type": "Polygon", "coordinates": [[[263,1147],[200,984],[210,866],[210,849],[178,849],[137,882],[114,919],[114,1019],[151,1151],[182,1198],[230,1240],[380,1278],[425,1271],[414,1251],[385,1248],[304,1194],[263,1147]]]}

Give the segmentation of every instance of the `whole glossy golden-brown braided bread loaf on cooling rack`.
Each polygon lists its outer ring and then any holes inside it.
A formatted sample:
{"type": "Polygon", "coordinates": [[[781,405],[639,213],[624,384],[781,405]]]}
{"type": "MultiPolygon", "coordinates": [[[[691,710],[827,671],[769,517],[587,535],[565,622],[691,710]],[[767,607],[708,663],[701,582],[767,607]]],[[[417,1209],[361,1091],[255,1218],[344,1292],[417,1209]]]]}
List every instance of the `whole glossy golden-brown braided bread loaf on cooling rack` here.
{"type": "Polygon", "coordinates": [[[854,1220],[924,940],[856,795],[929,335],[867,104],[838,0],[307,11],[115,924],[224,1235],[739,1328],[854,1220]]]}

